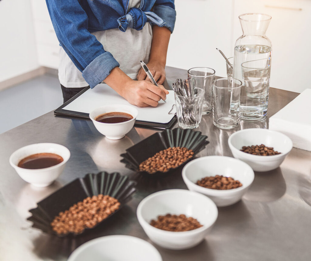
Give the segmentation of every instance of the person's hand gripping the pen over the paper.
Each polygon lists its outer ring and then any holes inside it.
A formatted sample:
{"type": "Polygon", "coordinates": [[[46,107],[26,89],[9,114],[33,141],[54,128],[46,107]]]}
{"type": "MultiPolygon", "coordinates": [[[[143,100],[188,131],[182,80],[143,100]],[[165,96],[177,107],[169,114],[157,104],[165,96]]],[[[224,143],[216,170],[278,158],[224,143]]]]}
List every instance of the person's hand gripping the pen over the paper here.
{"type": "Polygon", "coordinates": [[[155,86],[148,81],[129,81],[122,91],[122,96],[132,105],[139,107],[156,107],[158,102],[166,100],[169,92],[163,85],[155,86]]]}

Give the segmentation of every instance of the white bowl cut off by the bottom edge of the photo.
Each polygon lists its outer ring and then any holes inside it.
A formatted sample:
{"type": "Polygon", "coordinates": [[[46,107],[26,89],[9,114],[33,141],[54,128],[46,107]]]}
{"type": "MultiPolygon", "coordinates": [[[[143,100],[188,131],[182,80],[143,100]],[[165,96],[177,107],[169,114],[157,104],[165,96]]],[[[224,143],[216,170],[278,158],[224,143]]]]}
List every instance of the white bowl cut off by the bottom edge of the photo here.
{"type": "Polygon", "coordinates": [[[109,235],[90,240],[72,252],[68,261],[162,261],[156,248],[129,235],[109,235]]]}

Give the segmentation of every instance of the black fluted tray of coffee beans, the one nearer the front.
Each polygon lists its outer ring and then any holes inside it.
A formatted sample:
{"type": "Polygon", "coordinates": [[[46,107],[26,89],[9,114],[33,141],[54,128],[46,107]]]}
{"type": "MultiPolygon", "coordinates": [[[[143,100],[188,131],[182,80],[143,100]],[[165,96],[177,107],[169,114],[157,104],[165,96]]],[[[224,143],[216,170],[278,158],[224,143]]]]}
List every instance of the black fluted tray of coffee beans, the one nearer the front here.
{"type": "Polygon", "coordinates": [[[117,172],[87,174],[38,202],[27,220],[59,237],[79,235],[118,212],[131,199],[135,185],[117,172]]]}

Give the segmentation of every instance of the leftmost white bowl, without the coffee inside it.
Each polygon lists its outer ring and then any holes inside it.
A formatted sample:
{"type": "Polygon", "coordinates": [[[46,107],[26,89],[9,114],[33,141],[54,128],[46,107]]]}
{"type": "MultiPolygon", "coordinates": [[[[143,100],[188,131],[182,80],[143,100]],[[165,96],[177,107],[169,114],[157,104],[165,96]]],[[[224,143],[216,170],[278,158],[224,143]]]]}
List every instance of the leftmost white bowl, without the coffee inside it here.
{"type": "Polygon", "coordinates": [[[70,151],[63,145],[56,143],[35,143],[18,149],[10,156],[10,164],[17,174],[26,182],[36,187],[46,187],[53,183],[62,173],[66,162],[69,160],[70,151]],[[55,153],[63,157],[63,161],[57,165],[44,169],[24,169],[18,167],[18,163],[27,156],[37,153],[55,153]]]}

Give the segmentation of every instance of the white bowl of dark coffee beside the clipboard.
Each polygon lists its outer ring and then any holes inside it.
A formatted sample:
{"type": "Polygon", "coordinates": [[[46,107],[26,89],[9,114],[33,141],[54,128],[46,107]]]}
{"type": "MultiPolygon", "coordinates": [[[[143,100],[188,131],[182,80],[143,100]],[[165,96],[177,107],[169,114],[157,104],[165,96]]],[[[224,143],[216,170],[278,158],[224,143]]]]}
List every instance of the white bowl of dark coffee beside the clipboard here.
{"type": "Polygon", "coordinates": [[[134,126],[138,111],[129,105],[105,105],[91,111],[95,128],[110,140],[122,139],[134,126]]]}

